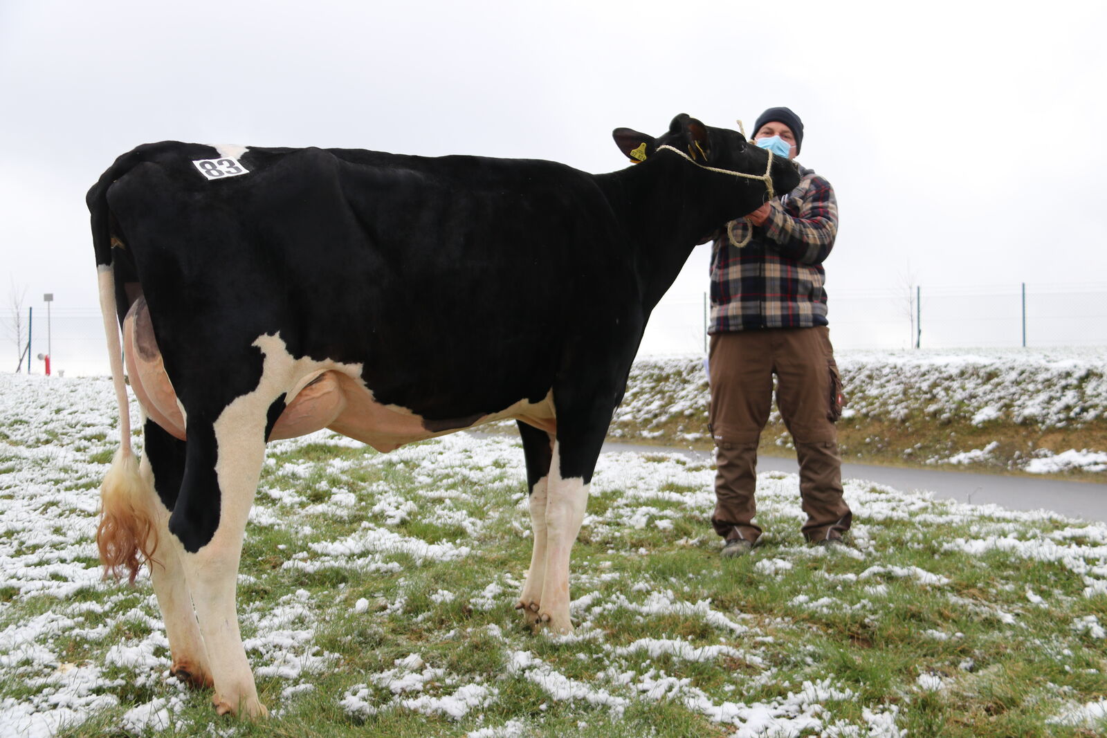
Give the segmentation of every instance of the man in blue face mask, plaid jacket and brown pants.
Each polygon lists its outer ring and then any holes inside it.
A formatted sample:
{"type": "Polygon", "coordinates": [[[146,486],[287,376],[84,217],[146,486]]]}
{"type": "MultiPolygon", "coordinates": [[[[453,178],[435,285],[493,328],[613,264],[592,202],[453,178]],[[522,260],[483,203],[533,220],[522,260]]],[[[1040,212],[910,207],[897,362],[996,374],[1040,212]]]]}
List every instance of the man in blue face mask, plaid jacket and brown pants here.
{"type": "MultiPolygon", "coordinates": [[[[804,143],[804,124],[787,107],[770,107],[757,118],[754,143],[793,158],[804,143]]],[[[774,374],[777,407],[799,460],[804,537],[816,545],[841,545],[852,518],[842,499],[835,428],[841,381],[823,289],[838,206],[830,183],[799,170],[796,189],[727,224],[712,247],[710,419],[718,469],[712,524],[727,558],[748,553],[762,533],[753,522],[757,441],[768,420],[774,374]]]]}

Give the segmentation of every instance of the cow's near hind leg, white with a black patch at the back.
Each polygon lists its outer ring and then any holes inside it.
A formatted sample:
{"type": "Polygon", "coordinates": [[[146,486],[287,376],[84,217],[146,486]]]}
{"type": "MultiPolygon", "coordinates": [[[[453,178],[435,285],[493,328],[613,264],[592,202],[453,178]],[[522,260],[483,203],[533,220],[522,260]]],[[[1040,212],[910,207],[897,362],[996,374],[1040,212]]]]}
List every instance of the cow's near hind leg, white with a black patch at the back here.
{"type": "Polygon", "coordinates": [[[213,426],[189,413],[185,476],[169,530],[196,607],[220,715],[267,715],[238,627],[235,593],[246,520],[265,459],[265,407],[236,399],[213,426]]]}

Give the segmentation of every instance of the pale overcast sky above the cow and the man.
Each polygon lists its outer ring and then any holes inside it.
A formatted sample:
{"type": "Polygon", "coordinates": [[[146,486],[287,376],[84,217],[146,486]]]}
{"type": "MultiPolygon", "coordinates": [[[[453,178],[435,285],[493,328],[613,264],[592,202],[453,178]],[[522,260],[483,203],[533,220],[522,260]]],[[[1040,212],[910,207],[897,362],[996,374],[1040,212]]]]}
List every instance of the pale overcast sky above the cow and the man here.
{"type": "MultiPolygon", "coordinates": [[[[611,129],[790,106],[834,294],[1107,289],[1107,3],[0,0],[0,293],[96,306],[84,194],[145,142],[625,166],[611,129]],[[9,277],[10,274],[10,277],[9,277]]],[[[541,224],[535,224],[540,228],[541,224]]],[[[706,287],[707,248],[674,294],[706,287]]],[[[6,301],[7,306],[7,301],[6,301]]],[[[38,330],[38,329],[37,329],[38,330]]]]}

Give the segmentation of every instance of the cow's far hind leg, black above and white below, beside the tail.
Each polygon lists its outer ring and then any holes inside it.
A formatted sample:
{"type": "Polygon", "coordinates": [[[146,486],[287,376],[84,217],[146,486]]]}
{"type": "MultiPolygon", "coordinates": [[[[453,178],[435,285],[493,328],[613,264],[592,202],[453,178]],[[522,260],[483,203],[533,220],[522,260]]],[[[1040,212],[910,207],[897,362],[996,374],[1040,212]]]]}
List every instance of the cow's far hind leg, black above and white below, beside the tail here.
{"type": "Polygon", "coordinates": [[[185,470],[185,443],[170,436],[153,420],[144,427],[144,453],[139,474],[148,493],[148,509],[155,521],[158,548],[151,567],[151,580],[165,621],[173,657],[170,673],[194,687],[210,687],[204,638],[196,623],[193,599],[180,565],[179,545],[169,534],[169,513],[180,491],[185,470]]]}

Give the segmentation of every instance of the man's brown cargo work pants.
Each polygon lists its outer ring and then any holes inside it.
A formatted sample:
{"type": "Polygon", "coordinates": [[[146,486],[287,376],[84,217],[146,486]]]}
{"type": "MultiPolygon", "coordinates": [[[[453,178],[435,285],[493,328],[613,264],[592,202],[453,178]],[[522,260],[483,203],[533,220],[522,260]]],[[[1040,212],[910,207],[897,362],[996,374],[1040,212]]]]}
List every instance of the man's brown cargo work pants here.
{"type": "Polygon", "coordinates": [[[756,541],[757,443],[776,405],[796,445],[799,495],[816,543],[841,538],[852,513],[842,499],[835,422],[841,415],[841,378],[826,326],[735,331],[711,336],[711,432],[715,440],[715,512],[723,538],[756,541]]]}

